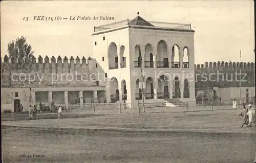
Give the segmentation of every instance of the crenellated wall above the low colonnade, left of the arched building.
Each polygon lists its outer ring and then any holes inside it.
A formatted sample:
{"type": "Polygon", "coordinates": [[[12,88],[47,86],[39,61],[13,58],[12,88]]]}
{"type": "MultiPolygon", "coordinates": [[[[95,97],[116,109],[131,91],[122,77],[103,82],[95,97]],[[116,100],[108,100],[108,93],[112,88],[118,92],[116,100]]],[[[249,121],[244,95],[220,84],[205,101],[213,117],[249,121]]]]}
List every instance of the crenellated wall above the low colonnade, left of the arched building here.
{"type": "MultiPolygon", "coordinates": [[[[2,87],[47,87],[47,86],[95,86],[96,81],[104,77],[101,68],[96,68],[96,60],[84,58],[80,60],[73,56],[44,59],[39,56],[31,58],[1,59],[1,86],[2,87]],[[92,74],[94,73],[94,74],[92,74]],[[100,76],[98,76],[98,73],[100,76]],[[82,75],[81,75],[82,74],[82,75]],[[96,75],[95,75],[96,74],[96,75]],[[89,78],[93,80],[89,80],[89,78]]],[[[104,78],[103,78],[104,80],[104,78]]],[[[105,86],[99,82],[99,86],[105,86]]]]}

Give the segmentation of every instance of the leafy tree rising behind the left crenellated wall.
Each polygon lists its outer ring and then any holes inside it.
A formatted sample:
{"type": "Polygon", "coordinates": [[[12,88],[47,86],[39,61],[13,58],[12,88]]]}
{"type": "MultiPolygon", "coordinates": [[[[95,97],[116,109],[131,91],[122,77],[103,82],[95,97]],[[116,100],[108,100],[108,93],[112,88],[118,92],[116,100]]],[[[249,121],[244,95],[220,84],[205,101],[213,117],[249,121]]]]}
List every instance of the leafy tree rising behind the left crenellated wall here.
{"type": "Polygon", "coordinates": [[[8,43],[8,54],[9,57],[18,58],[19,56],[22,58],[29,57],[31,58],[34,51],[32,51],[32,47],[30,44],[27,43],[26,37],[18,37],[16,40],[12,40],[8,43]]]}

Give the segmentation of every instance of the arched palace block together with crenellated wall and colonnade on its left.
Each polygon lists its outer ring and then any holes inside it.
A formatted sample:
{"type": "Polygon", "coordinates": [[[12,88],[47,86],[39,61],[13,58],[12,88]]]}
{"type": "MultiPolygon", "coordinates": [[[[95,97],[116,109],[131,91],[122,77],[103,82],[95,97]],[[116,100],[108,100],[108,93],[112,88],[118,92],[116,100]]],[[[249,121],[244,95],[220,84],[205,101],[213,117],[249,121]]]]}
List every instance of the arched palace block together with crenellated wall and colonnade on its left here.
{"type": "Polygon", "coordinates": [[[194,33],[189,24],[151,22],[138,14],[94,27],[88,59],[5,56],[2,112],[15,112],[19,103],[26,111],[30,104],[52,101],[66,108],[125,101],[135,110],[142,98],[145,103],[196,101],[194,33]]]}

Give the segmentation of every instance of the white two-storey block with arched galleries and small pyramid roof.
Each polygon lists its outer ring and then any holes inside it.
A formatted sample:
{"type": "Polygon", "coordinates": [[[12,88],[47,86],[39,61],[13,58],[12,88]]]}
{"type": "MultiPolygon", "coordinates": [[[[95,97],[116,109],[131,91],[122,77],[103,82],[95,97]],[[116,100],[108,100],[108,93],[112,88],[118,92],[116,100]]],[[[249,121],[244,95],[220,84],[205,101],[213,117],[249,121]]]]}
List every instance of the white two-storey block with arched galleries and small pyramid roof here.
{"type": "Polygon", "coordinates": [[[94,28],[93,57],[107,74],[106,101],[132,107],[142,97],[145,103],[195,101],[195,31],[190,24],[150,22],[137,14],[94,28]]]}

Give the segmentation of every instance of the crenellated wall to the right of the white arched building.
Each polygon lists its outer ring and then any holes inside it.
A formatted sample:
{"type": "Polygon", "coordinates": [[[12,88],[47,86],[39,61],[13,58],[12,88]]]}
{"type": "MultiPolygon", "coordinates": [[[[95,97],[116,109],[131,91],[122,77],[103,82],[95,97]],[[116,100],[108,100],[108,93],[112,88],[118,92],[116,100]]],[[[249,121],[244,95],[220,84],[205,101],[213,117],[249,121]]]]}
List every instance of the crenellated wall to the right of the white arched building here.
{"type": "Polygon", "coordinates": [[[196,89],[206,87],[253,87],[255,86],[255,64],[253,62],[205,62],[204,64],[195,64],[196,89]],[[205,81],[205,79],[211,79],[205,81]]]}

